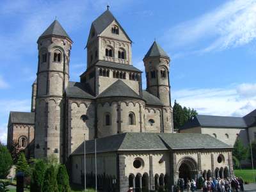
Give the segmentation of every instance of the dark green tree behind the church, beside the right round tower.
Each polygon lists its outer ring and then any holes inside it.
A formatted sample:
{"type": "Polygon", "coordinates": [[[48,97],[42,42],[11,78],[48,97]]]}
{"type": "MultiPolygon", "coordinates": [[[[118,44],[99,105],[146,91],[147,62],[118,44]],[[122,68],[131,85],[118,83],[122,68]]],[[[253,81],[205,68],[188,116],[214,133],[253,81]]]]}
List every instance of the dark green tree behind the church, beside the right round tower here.
{"type": "Polygon", "coordinates": [[[196,116],[196,110],[190,108],[182,108],[179,103],[174,102],[173,106],[173,126],[174,129],[182,127],[189,119],[196,116]]]}

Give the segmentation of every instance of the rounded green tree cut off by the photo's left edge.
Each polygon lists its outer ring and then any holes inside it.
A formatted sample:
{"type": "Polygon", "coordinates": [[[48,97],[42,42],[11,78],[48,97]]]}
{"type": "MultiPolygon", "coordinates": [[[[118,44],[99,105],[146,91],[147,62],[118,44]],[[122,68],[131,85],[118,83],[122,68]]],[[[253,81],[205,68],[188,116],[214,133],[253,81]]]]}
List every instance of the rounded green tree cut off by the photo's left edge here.
{"type": "Polygon", "coordinates": [[[12,156],[8,149],[0,143],[0,179],[6,179],[12,167],[12,156]]]}

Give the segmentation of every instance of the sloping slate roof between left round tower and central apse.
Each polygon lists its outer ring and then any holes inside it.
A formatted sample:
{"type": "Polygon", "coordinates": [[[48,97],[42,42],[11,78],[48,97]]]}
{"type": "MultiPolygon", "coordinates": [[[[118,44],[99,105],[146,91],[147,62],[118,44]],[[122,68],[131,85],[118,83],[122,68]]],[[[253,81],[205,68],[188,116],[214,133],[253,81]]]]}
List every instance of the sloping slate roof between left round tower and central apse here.
{"type": "Polygon", "coordinates": [[[68,83],[65,90],[67,97],[93,99],[92,90],[86,83],[72,82],[68,83]]]}

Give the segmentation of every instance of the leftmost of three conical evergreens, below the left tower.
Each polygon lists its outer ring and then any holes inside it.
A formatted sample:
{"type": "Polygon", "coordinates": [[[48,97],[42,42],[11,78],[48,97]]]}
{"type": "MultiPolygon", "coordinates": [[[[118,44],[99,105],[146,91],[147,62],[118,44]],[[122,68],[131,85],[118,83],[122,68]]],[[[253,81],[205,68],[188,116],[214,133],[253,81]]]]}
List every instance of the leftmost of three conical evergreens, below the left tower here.
{"type": "Polygon", "coordinates": [[[47,164],[42,159],[35,160],[35,166],[31,177],[30,191],[41,192],[44,183],[44,174],[47,164]]]}

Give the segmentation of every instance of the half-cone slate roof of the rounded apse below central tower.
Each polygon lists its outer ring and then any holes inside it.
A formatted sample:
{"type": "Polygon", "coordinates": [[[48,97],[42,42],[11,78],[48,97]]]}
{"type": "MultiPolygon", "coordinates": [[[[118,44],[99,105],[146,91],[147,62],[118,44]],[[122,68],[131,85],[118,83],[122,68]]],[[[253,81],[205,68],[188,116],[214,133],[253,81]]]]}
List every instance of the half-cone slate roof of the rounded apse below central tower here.
{"type": "Polygon", "coordinates": [[[134,90],[120,79],[106,88],[97,98],[102,97],[132,97],[141,99],[140,95],[135,93],[134,90]]]}

